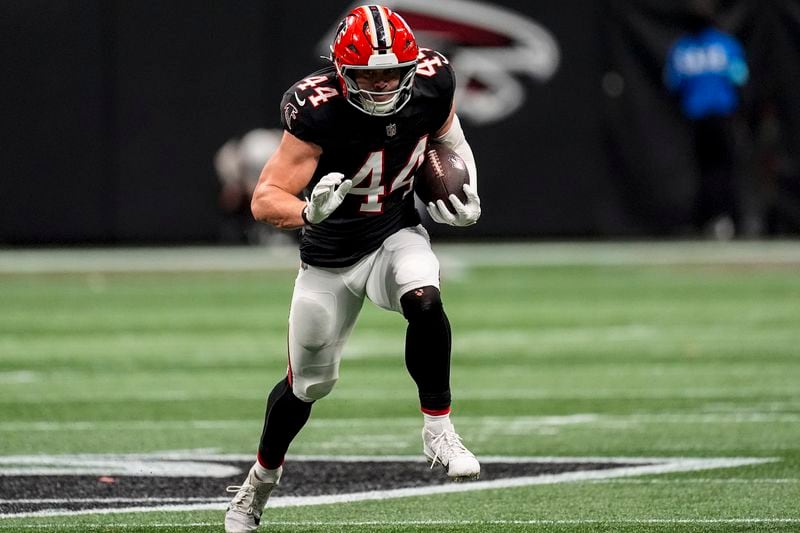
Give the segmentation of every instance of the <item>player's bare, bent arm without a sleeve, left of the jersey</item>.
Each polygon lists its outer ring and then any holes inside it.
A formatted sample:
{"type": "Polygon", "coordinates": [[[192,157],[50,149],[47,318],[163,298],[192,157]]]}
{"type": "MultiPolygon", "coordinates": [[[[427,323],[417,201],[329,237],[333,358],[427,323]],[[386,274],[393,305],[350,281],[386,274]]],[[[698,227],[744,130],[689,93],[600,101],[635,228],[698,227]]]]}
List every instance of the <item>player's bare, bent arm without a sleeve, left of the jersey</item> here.
{"type": "Polygon", "coordinates": [[[253,192],[250,209],[256,220],[281,229],[301,227],[306,202],[299,195],[314,176],[321,155],[316,144],[284,131],[253,192]]]}

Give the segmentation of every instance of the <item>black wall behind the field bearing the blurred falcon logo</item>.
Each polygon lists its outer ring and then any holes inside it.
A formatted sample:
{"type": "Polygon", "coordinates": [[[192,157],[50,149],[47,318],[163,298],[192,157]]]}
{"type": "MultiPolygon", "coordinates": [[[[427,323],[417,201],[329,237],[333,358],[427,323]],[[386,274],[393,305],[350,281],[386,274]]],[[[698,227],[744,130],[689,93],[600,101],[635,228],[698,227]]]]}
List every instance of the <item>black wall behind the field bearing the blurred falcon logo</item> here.
{"type": "MultiPolygon", "coordinates": [[[[693,3],[393,2],[460,73],[485,214],[458,238],[702,233],[693,132],[661,79],[693,3]]],[[[280,127],[283,91],[323,64],[349,5],[3,2],[0,243],[218,242],[215,152],[280,127]]],[[[800,8],[719,6],[751,69],[737,231],[796,235],[800,8]]]]}

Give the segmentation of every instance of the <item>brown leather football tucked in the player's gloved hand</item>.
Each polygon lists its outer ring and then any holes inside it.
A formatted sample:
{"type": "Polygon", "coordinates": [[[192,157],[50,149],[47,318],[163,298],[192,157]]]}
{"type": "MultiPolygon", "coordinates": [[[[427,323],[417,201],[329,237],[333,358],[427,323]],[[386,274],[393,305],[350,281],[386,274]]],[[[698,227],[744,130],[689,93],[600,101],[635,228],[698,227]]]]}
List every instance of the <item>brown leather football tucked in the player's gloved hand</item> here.
{"type": "Polygon", "coordinates": [[[431,143],[414,178],[414,192],[425,205],[444,200],[450,205],[450,195],[467,201],[463,186],[469,183],[469,171],[461,156],[447,146],[431,143]]]}

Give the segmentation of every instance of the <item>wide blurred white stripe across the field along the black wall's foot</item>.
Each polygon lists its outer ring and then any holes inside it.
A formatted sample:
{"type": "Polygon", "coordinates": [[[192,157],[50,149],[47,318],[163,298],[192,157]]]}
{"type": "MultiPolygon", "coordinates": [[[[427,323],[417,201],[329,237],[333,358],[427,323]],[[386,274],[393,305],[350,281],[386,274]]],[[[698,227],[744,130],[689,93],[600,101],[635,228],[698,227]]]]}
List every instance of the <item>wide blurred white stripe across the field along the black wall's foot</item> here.
{"type": "MultiPolygon", "coordinates": [[[[797,265],[793,241],[435,244],[442,268],[472,266],[797,265]]],[[[181,246],[0,250],[0,273],[211,272],[294,270],[296,246],[181,246]]]]}

